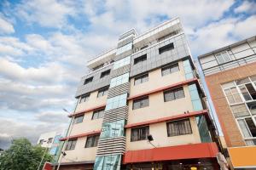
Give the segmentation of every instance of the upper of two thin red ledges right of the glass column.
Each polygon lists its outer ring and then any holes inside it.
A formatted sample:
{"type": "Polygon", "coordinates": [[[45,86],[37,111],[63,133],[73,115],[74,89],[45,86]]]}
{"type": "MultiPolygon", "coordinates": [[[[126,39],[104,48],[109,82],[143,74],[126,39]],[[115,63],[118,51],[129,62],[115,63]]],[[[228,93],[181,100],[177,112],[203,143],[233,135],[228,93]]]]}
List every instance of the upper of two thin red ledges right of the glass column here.
{"type": "Polygon", "coordinates": [[[165,87],[162,87],[162,88],[156,88],[152,91],[149,91],[149,92],[146,92],[146,93],[143,93],[143,94],[137,94],[137,95],[131,96],[131,97],[128,98],[128,100],[142,98],[142,97],[147,96],[149,94],[155,94],[155,93],[158,93],[158,92],[164,91],[166,89],[170,89],[170,88],[177,88],[177,87],[183,86],[185,84],[189,84],[191,82],[198,82],[198,79],[197,78],[192,78],[192,79],[189,79],[189,80],[186,80],[186,81],[183,81],[183,82],[177,82],[177,83],[174,83],[172,85],[165,86],[165,87]]]}

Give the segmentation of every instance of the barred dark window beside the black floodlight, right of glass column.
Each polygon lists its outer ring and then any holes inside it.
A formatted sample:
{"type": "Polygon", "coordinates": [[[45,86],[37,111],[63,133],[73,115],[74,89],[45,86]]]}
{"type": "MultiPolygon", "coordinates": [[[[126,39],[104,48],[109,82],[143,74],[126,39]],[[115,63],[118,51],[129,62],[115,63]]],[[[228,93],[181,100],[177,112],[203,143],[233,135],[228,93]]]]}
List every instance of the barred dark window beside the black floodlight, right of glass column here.
{"type": "Polygon", "coordinates": [[[149,134],[149,126],[131,128],[131,142],[146,140],[149,134]]]}

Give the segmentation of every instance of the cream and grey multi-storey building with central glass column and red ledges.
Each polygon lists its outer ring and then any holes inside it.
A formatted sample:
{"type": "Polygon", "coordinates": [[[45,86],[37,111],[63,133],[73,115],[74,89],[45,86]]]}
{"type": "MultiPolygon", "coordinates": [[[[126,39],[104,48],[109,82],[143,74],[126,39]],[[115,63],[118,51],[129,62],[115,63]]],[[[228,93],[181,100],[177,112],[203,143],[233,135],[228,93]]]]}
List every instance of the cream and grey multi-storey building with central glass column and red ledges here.
{"type": "Polygon", "coordinates": [[[218,169],[211,118],[178,18],[119,36],[88,64],[60,169],[218,169]]]}

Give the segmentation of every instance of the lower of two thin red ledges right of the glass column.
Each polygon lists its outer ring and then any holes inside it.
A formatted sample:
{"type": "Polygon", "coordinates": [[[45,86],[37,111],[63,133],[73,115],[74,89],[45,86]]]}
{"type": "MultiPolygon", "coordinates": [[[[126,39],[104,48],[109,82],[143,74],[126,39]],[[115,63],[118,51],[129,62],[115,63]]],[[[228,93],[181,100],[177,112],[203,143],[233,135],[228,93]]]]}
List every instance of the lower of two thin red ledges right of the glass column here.
{"type": "Polygon", "coordinates": [[[136,122],[136,123],[127,124],[127,125],[125,125],[125,128],[139,127],[139,126],[154,124],[154,123],[159,123],[159,122],[167,122],[167,121],[187,118],[187,117],[191,117],[191,116],[208,115],[207,113],[208,113],[207,110],[193,111],[193,112],[189,112],[189,113],[179,114],[179,115],[176,115],[176,116],[162,117],[162,118],[154,119],[154,120],[151,120],[151,121],[136,122]]]}

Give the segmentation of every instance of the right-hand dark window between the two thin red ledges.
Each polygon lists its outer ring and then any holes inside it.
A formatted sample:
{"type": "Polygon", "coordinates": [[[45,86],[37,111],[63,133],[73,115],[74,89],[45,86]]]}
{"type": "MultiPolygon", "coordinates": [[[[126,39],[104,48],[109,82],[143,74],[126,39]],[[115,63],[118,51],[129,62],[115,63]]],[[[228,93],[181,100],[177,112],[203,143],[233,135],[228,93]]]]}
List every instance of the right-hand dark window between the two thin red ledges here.
{"type": "Polygon", "coordinates": [[[174,99],[181,99],[184,98],[185,94],[183,88],[175,88],[172,90],[167,90],[164,92],[164,99],[166,101],[172,101],[174,99]]]}

